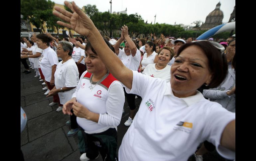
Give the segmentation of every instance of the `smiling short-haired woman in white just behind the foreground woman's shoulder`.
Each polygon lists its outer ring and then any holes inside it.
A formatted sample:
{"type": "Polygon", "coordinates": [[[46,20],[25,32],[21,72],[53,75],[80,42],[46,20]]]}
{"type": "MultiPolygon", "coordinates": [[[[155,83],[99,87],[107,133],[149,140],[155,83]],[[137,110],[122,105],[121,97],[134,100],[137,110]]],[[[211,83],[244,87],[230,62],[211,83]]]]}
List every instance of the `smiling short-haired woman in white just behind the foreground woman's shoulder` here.
{"type": "Polygon", "coordinates": [[[149,75],[154,78],[161,78],[166,82],[171,79],[171,66],[167,65],[173,58],[174,49],[169,46],[164,46],[159,49],[158,56],[156,57],[157,63],[148,64],[142,74],[149,75]]]}

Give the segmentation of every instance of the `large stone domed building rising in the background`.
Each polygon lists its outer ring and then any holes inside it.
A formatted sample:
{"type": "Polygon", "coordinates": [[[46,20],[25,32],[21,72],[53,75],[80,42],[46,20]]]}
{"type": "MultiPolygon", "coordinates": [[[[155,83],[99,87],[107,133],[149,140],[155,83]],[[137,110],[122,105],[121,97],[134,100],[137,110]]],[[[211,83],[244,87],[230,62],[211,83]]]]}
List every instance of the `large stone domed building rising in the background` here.
{"type": "Polygon", "coordinates": [[[216,8],[206,16],[205,23],[201,25],[200,30],[209,30],[222,24],[223,12],[219,8],[220,2],[216,5],[216,8]]]}

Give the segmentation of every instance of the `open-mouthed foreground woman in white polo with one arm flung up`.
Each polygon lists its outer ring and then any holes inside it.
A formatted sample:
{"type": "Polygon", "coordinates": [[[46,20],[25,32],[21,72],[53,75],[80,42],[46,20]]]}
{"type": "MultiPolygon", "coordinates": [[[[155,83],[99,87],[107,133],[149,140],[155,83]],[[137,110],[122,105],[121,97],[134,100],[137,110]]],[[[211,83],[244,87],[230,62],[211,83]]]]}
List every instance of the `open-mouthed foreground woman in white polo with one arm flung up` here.
{"type": "Polygon", "coordinates": [[[222,45],[207,40],[184,44],[171,67],[171,83],[166,82],[125,67],[89,17],[74,2],[64,4],[73,13],[60,7],[53,13],[70,24],[57,23],[86,36],[113,76],[126,86],[126,92],[142,97],[119,148],[120,161],[186,161],[204,140],[214,143],[225,158],[234,159],[235,114],[204,99],[196,90],[217,87],[224,80],[227,62],[222,45]]]}

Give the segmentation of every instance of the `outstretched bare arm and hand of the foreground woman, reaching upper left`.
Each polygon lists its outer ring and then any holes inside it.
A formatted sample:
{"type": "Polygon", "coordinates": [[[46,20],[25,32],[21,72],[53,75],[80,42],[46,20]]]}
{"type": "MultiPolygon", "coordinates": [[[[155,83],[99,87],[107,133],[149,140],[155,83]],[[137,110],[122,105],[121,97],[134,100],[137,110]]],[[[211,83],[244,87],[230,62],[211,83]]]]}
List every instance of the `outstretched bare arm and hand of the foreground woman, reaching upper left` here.
{"type": "Polygon", "coordinates": [[[80,35],[86,36],[112,75],[127,88],[131,89],[133,79],[132,71],[126,68],[117,56],[114,56],[115,53],[107,46],[91,19],[81,11],[74,2],[70,4],[68,1],[65,1],[64,4],[70,8],[73,13],[55,6],[56,11],[53,11],[53,14],[67,22],[58,21],[57,23],[74,30],[80,35]]]}

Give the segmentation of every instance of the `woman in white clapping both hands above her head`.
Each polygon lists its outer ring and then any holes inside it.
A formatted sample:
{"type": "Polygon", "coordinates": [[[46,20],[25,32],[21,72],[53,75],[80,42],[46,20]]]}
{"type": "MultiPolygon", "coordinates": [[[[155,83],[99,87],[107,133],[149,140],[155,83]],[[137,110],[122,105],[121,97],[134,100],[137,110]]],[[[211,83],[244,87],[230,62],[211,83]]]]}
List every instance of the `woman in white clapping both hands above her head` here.
{"type": "MultiPolygon", "coordinates": [[[[135,42],[133,42],[133,40],[129,37],[128,27],[124,25],[121,30],[121,38],[114,45],[115,53],[128,69],[137,71],[140,65],[140,50],[136,47],[135,42]],[[123,49],[120,49],[119,46],[124,39],[126,40],[125,46],[123,49]]],[[[136,95],[126,93],[125,86],[123,84],[122,86],[124,88],[125,97],[130,108],[130,116],[128,120],[125,121],[124,125],[130,126],[136,114],[136,95]]]]}

